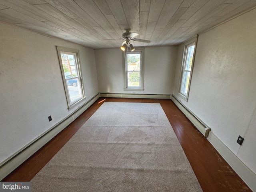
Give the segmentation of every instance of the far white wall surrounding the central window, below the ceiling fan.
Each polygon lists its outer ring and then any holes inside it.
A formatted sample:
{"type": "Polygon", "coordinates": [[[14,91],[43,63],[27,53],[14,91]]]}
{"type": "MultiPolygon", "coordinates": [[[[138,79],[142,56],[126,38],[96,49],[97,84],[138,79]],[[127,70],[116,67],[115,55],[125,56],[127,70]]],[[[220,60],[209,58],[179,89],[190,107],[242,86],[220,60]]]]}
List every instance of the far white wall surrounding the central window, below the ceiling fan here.
{"type": "Polygon", "coordinates": [[[124,91],[124,52],[120,48],[94,52],[99,92],[172,94],[177,46],[144,49],[144,91],[124,91]]]}

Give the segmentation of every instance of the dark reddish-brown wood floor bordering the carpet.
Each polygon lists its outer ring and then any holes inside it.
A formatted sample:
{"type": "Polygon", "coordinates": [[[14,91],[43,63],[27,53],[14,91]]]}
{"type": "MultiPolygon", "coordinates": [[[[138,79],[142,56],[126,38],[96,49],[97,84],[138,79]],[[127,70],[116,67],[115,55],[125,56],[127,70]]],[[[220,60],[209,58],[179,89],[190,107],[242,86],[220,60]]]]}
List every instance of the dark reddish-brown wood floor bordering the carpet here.
{"type": "Polygon", "coordinates": [[[2,181],[30,181],[105,101],[160,103],[204,192],[251,192],[176,105],[165,99],[99,98],[2,181]]]}

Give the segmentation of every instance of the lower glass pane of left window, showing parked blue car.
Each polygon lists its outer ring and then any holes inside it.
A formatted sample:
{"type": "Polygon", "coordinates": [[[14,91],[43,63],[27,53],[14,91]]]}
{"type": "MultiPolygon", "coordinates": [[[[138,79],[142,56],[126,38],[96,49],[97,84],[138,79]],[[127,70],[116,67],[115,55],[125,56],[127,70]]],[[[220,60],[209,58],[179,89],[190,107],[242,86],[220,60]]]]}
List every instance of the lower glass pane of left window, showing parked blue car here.
{"type": "Polygon", "coordinates": [[[79,78],[66,79],[70,102],[73,103],[82,98],[82,89],[79,78]]]}

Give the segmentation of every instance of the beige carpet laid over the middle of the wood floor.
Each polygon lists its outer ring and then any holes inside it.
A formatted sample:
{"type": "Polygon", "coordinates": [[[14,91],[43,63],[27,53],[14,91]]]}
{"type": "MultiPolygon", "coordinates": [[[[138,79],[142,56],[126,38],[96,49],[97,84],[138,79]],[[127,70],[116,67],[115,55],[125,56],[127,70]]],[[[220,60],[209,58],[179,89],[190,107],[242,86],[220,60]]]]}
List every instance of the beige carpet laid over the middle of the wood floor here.
{"type": "Polygon", "coordinates": [[[33,192],[201,192],[158,103],[104,102],[32,179],[33,192]]]}

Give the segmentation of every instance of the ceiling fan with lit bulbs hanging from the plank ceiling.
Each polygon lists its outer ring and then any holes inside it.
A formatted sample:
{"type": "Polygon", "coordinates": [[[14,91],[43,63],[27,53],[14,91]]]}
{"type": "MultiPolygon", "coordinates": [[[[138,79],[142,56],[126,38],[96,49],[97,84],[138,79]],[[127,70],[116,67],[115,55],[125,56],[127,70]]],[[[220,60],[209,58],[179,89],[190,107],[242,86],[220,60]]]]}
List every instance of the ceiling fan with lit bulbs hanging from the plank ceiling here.
{"type": "Polygon", "coordinates": [[[134,32],[131,32],[130,29],[126,29],[125,32],[122,34],[122,37],[123,37],[122,39],[125,41],[122,43],[121,50],[123,50],[123,51],[128,50],[128,47],[130,47],[131,51],[135,50],[134,46],[132,44],[130,44],[130,40],[144,42],[144,43],[150,43],[150,40],[134,38],[138,35],[139,35],[138,33],[134,33],[134,32]]]}

